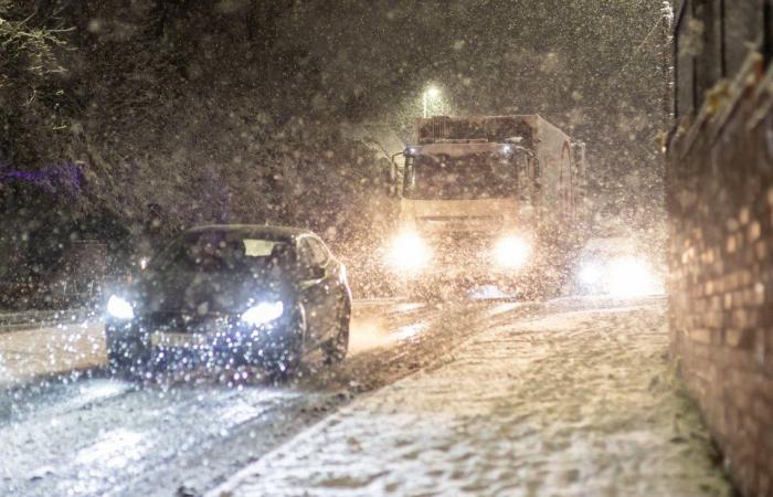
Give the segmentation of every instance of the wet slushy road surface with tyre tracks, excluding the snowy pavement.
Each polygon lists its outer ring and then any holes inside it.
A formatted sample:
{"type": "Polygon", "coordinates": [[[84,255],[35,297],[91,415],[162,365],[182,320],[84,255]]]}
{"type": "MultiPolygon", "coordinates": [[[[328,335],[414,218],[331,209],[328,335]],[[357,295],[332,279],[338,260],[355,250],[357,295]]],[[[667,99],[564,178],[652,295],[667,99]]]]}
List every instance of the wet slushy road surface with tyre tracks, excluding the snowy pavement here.
{"type": "Polygon", "coordinates": [[[203,491],[360,394],[448,360],[495,316],[528,308],[358,303],[347,360],[333,370],[311,361],[303,378],[279,387],[205,372],[138,385],[102,373],[98,328],[6,334],[0,353],[17,358],[6,362],[15,379],[34,369],[20,373],[21,352],[40,371],[66,369],[67,358],[97,366],[66,382],[0,391],[0,495],[203,491]],[[57,360],[47,361],[52,351],[57,360]]]}

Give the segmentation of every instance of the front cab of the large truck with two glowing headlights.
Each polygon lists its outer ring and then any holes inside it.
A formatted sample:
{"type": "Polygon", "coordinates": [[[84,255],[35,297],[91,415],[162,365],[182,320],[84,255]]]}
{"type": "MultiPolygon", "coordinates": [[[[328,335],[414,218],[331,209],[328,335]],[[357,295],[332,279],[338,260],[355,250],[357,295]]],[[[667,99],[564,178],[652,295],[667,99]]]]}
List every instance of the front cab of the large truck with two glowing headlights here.
{"type": "Polygon", "coordinates": [[[533,243],[539,163],[517,144],[444,140],[404,154],[394,273],[413,287],[511,278],[533,243]]]}

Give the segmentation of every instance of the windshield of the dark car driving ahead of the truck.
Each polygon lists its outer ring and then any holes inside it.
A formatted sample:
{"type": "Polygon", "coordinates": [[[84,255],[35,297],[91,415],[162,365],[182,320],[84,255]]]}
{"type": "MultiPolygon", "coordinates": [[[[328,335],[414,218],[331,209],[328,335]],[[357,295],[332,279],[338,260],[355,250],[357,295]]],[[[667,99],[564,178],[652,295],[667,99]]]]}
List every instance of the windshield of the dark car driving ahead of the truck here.
{"type": "Polygon", "coordinates": [[[286,269],[293,260],[286,241],[242,233],[190,233],[173,242],[150,264],[157,272],[256,272],[286,269]]]}

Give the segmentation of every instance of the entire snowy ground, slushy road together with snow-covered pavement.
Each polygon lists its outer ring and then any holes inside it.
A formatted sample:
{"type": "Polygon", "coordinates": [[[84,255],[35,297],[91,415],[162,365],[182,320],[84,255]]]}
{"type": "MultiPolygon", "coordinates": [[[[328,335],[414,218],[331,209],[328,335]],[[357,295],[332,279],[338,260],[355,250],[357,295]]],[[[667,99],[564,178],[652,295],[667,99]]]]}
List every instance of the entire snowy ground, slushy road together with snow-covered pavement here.
{"type": "Polygon", "coordinates": [[[109,379],[97,325],[0,335],[14,381],[86,368],[0,390],[0,495],[728,495],[664,308],[358,303],[347,360],[282,385],[109,379]]]}

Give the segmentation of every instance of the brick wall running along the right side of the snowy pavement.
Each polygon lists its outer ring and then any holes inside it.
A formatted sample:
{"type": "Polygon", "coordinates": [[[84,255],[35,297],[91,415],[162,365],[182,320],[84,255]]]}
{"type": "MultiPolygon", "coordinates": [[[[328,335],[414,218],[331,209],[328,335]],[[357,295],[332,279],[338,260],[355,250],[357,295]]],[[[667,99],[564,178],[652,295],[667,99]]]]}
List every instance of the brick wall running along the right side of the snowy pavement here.
{"type": "Polygon", "coordinates": [[[773,76],[750,56],[671,137],[671,353],[733,479],[773,496],[773,76]]]}

